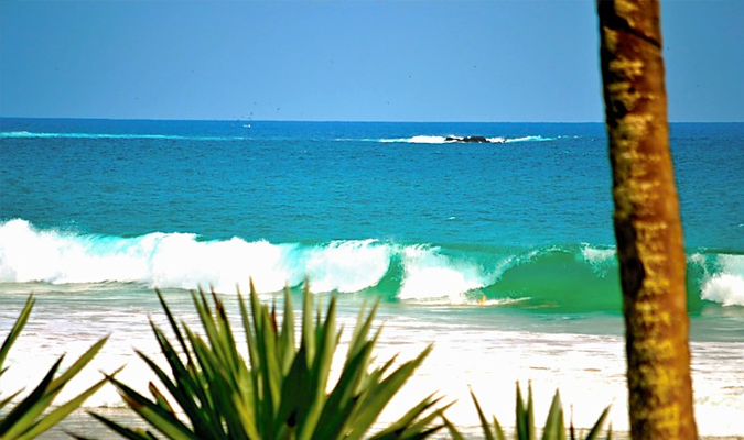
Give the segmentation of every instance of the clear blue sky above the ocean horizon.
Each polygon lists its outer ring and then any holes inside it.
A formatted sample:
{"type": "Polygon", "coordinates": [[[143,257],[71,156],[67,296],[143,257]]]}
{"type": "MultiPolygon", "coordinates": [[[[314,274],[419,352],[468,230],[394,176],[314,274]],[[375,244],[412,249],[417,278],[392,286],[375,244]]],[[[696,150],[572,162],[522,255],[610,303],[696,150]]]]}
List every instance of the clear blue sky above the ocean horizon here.
{"type": "MultiPolygon", "coordinates": [[[[661,2],[669,117],[744,121],[744,0],[661,2]]],[[[0,1],[0,116],[602,121],[594,0],[0,1]]]]}

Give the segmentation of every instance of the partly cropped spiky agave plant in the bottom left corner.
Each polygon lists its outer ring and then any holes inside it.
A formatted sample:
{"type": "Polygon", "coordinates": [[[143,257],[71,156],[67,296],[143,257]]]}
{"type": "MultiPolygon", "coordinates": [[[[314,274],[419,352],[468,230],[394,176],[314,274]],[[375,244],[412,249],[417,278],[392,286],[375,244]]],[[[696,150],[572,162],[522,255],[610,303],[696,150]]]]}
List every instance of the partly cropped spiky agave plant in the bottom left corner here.
{"type": "MultiPolygon", "coordinates": [[[[15,323],[2,343],[2,346],[0,346],[0,376],[2,376],[2,374],[8,370],[3,369],[3,363],[8,356],[8,352],[10,352],[10,349],[13,345],[13,342],[15,342],[18,337],[21,334],[23,327],[28,322],[34,302],[35,299],[33,298],[33,295],[30,295],[25,306],[23,307],[23,310],[21,311],[21,315],[15,320],[15,323]]],[[[19,397],[23,391],[21,389],[9,397],[1,399],[0,411],[2,411],[4,416],[0,417],[0,439],[33,439],[58,424],[72,411],[83,405],[85,399],[87,399],[106,383],[105,378],[72,400],[60,405],[51,411],[44,414],[44,411],[51,408],[52,403],[54,402],[55,397],[57,397],[60,392],[62,392],[64,386],[67,385],[69,381],[75,377],[75,375],[77,375],[77,373],[79,373],[80,370],[85,367],[85,365],[88,364],[88,362],[90,362],[90,360],[96,355],[96,353],[98,353],[98,351],[100,351],[105,343],[106,338],[96,342],[72,366],[69,366],[67,371],[55,378],[55,375],[60,370],[60,365],[62,364],[62,360],[64,359],[64,356],[61,356],[54,363],[54,365],[52,365],[48,373],[46,373],[44,378],[31,392],[31,394],[17,403],[11,409],[7,411],[4,410],[6,407],[10,407],[11,402],[19,397]]]]}

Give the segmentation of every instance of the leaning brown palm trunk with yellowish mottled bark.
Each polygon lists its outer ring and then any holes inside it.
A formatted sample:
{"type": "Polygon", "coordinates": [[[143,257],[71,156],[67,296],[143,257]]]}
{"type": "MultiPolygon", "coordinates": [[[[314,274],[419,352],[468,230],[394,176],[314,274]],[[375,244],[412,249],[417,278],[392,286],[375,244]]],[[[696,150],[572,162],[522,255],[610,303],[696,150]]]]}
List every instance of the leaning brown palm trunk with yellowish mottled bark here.
{"type": "Polygon", "coordinates": [[[630,432],[697,439],[658,0],[597,0],[630,432]]]}

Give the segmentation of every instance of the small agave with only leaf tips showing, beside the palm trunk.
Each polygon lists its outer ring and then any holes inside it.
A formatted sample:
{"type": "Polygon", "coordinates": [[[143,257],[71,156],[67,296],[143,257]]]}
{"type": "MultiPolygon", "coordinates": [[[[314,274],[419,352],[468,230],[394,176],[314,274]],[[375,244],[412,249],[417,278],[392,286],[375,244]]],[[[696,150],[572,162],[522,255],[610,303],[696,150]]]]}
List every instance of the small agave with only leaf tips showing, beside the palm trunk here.
{"type": "MultiPolygon", "coordinates": [[[[517,384],[517,424],[516,424],[516,440],[535,440],[537,438],[537,431],[535,429],[535,406],[532,403],[532,387],[528,387],[527,404],[521,395],[519,384],[517,384]]],[[[481,404],[475,397],[475,394],[471,391],[471,397],[473,397],[473,403],[475,404],[475,409],[478,413],[478,419],[481,420],[481,427],[483,428],[483,435],[486,440],[506,440],[506,435],[502,429],[502,426],[498,424],[496,417],[493,418],[493,427],[488,425],[486,416],[481,409],[481,404]]],[[[610,407],[605,408],[600,418],[596,420],[592,429],[584,438],[584,440],[596,440],[599,439],[600,431],[604,425],[607,415],[610,414],[610,407]]],[[[465,438],[457,431],[457,429],[442,416],[444,425],[450,431],[453,440],[465,440],[465,438]]],[[[571,440],[576,440],[576,430],[573,427],[573,422],[569,429],[569,436],[571,440]]],[[[553,396],[552,404],[550,405],[550,410],[548,411],[548,419],[546,420],[546,426],[542,430],[542,440],[565,440],[567,439],[567,429],[563,424],[563,407],[561,405],[560,393],[556,391],[553,396]]],[[[612,439],[612,428],[607,430],[607,440],[612,439]]]]}

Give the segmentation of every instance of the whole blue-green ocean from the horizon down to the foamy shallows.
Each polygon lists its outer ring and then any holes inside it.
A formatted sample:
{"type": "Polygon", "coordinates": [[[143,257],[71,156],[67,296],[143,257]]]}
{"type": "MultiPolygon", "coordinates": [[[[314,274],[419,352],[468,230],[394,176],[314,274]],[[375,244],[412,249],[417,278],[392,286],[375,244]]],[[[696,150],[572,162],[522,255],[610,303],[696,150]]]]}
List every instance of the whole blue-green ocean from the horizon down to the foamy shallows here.
{"type": "MultiPolygon", "coordinates": [[[[675,123],[670,144],[699,431],[744,436],[744,123],[675,123]]],[[[153,288],[195,326],[192,289],[237,312],[251,279],[267,301],[309,279],[324,304],[338,296],[346,333],[380,301],[380,360],[434,343],[382,421],[439,392],[451,420],[476,426],[473,389],[514,425],[518,382],[538,425],[560,388],[575,425],[612,405],[624,431],[612,210],[601,123],[3,118],[0,336],[30,293],[36,306],[0,395],[105,336],[65,396],[121,365],[144,391],[133,351],[158,352],[153,288]],[[448,141],[466,135],[490,142],[448,141]]],[[[85,406],[122,404],[104,388],[85,406]]]]}

